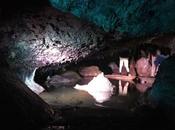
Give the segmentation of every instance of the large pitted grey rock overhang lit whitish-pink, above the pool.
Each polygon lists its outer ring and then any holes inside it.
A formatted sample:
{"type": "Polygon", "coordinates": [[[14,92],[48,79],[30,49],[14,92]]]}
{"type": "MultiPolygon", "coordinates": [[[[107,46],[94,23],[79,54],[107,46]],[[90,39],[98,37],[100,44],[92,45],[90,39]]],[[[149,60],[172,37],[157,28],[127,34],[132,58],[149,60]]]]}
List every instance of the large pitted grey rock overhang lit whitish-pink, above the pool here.
{"type": "Polygon", "coordinates": [[[84,58],[103,44],[103,31],[50,7],[16,12],[0,22],[0,48],[15,69],[84,58]]]}

